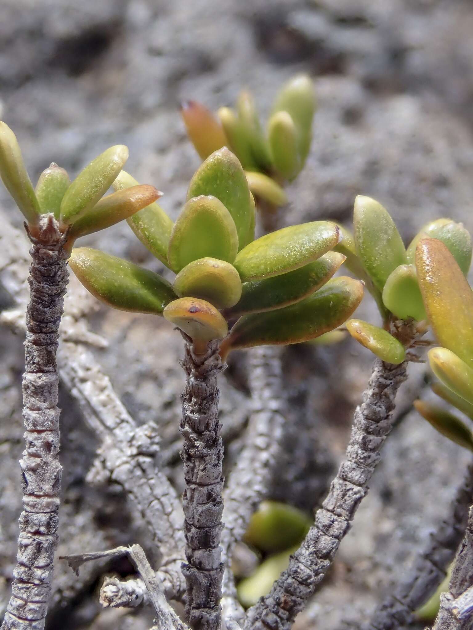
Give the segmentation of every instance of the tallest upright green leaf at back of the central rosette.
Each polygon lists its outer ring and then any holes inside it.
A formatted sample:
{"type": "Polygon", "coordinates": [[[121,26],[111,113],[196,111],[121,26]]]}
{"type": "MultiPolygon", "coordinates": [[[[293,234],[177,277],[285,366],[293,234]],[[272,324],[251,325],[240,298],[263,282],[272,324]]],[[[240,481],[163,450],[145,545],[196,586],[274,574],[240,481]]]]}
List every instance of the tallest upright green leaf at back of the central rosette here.
{"type": "Polygon", "coordinates": [[[252,221],[250,188],[248,188],[242,165],[226,147],[214,151],[207,157],[190,180],[187,199],[199,197],[199,195],[213,195],[218,198],[235,221],[238,241],[243,243],[248,238],[252,221]]]}

